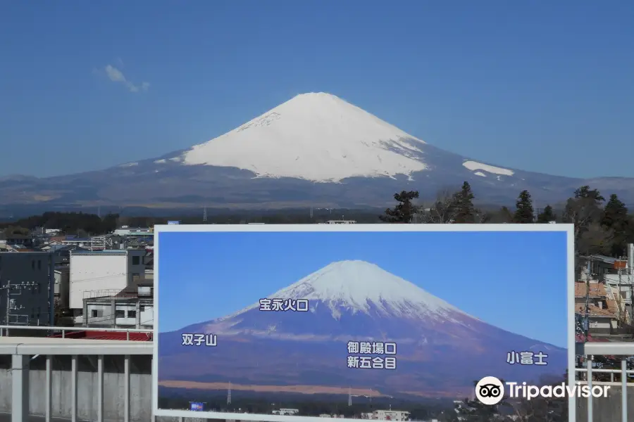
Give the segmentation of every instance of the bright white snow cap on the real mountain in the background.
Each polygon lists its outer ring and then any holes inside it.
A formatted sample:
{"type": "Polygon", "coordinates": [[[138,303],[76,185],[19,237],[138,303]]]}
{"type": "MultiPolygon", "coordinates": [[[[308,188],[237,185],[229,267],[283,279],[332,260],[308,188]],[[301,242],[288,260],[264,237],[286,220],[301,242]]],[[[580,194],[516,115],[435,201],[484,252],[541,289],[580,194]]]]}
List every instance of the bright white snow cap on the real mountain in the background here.
{"type": "Polygon", "coordinates": [[[258,177],[332,182],[411,175],[425,142],[323,92],[300,94],[182,155],[185,165],[237,167],[258,177]]]}

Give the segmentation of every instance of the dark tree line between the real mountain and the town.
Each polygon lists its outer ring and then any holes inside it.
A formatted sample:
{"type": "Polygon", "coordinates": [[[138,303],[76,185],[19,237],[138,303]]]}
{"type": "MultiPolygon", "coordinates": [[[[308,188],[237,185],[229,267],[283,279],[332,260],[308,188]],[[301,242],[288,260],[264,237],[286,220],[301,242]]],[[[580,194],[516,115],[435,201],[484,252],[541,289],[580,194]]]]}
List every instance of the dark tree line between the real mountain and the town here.
{"type": "MultiPolygon", "coordinates": [[[[445,190],[429,203],[416,204],[417,191],[402,191],[394,195],[397,205],[377,216],[368,210],[324,211],[309,215],[309,212],[283,212],[269,215],[210,216],[207,224],[240,224],[261,222],[267,224],[310,224],[326,222],[328,219],[353,219],[359,223],[520,223],[545,224],[549,222],[575,225],[576,250],[582,255],[602,254],[614,257],[626,255],[626,245],[634,243],[634,217],[626,205],[612,194],[604,198],[602,193],[590,186],[581,186],[566,200],[561,210],[547,205],[535,212],[528,191],[519,193],[515,207],[500,207],[497,210],[481,210],[474,205],[475,193],[468,182],[457,191],[445,190]]],[[[111,233],[120,226],[152,227],[166,224],[168,219],[178,219],[181,224],[201,224],[201,217],[125,217],[108,214],[104,217],[82,212],[44,212],[0,224],[0,230],[10,234],[27,234],[42,227],[61,229],[64,234],[95,236],[111,233]]]]}

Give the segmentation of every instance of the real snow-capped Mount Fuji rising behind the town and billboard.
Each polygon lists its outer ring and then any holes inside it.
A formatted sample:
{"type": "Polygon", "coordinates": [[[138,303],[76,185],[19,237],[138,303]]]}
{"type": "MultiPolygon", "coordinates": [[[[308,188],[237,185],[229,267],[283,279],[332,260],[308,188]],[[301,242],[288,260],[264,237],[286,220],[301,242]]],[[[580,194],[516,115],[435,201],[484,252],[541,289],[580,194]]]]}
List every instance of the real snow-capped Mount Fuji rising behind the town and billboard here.
{"type": "Polygon", "coordinates": [[[443,151],[325,93],[295,96],[211,141],[161,157],[68,176],[0,179],[6,205],[384,207],[394,192],[432,199],[469,181],[483,203],[540,203],[583,185],[634,203],[634,179],[575,179],[443,151]]]}

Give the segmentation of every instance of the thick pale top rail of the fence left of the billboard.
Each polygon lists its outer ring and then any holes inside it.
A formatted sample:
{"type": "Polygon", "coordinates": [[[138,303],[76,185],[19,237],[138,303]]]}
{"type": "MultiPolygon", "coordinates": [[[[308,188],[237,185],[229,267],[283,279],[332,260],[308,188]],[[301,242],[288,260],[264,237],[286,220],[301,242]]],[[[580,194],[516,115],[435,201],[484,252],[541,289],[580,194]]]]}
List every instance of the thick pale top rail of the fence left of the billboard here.
{"type": "Polygon", "coordinates": [[[150,341],[1,337],[0,354],[152,354],[150,341]]]}

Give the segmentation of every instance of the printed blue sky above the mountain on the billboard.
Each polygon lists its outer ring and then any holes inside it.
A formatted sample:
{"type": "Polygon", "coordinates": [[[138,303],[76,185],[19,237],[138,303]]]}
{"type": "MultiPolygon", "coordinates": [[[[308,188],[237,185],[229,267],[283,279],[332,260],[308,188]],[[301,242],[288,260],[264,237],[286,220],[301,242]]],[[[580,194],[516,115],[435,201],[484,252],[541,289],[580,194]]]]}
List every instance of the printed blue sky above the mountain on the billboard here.
{"type": "Polygon", "coordinates": [[[566,347],[566,234],[556,232],[161,233],[159,329],[232,314],[340,260],[372,262],[490,324],[566,347]]]}

